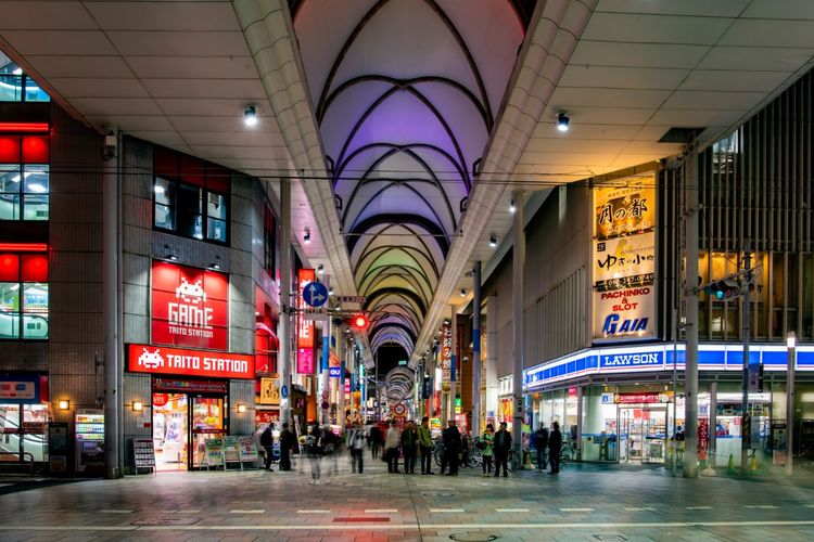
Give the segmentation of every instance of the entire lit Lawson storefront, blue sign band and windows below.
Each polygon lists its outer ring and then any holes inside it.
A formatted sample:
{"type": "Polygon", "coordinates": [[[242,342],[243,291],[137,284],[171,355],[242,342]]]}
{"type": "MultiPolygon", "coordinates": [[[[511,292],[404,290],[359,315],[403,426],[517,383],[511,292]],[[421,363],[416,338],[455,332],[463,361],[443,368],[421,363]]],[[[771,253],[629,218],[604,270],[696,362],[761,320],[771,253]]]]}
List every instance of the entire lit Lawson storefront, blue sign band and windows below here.
{"type": "MultiPolygon", "coordinates": [[[[699,433],[714,437],[718,453],[734,453],[742,434],[742,348],[705,344],[699,346],[698,358],[699,433]]],[[[777,344],[752,345],[749,358],[763,365],[766,379],[764,392],[750,395],[749,412],[760,422],[764,450],[775,453],[772,423],[786,415],[787,350],[777,344]]],[[[536,426],[558,421],[584,461],[663,463],[672,452],[670,437],[684,424],[684,367],[685,347],[673,344],[593,348],[543,363],[523,374],[530,422],[536,426]],[[679,375],[677,398],[674,367],[679,375]]],[[[814,347],[797,349],[797,374],[800,417],[813,418],[814,347]]]]}

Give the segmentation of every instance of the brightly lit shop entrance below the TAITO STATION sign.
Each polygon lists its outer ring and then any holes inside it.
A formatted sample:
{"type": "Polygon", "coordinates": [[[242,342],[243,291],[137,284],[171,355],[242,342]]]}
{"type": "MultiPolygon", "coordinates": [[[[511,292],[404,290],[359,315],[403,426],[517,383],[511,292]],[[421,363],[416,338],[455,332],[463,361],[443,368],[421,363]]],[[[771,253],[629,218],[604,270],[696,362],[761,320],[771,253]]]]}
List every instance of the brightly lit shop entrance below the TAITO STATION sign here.
{"type": "Polygon", "coordinates": [[[205,466],[206,440],[222,437],[225,433],[222,397],[153,393],[157,470],[205,466]]]}

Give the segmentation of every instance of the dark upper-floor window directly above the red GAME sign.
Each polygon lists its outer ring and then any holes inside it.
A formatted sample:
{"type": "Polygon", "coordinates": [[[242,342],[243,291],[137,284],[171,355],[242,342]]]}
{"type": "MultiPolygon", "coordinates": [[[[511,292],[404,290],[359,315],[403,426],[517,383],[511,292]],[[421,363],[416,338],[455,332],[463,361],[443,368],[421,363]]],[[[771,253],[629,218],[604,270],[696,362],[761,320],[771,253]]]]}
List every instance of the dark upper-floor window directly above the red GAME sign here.
{"type": "Polygon", "coordinates": [[[228,171],[155,147],[153,225],[185,237],[227,243],[228,171]]]}

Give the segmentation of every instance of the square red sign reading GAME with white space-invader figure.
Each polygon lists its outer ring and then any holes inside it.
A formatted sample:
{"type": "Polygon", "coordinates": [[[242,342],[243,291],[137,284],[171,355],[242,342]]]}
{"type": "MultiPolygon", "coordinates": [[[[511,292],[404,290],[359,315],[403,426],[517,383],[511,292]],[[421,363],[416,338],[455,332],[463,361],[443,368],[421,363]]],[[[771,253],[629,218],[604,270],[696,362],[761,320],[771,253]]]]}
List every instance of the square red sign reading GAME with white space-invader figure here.
{"type": "Polygon", "coordinates": [[[217,271],[153,261],[152,341],[229,349],[229,278],[217,271]]]}

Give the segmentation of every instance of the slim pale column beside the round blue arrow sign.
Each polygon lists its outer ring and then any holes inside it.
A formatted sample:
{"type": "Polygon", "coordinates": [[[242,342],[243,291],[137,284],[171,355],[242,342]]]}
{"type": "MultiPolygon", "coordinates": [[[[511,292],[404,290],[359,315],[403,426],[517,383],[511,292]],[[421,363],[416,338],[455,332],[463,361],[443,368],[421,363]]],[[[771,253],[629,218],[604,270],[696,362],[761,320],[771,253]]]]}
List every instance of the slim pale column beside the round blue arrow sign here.
{"type": "MultiPolygon", "coordinates": [[[[280,374],[280,390],[288,390],[287,397],[280,393],[280,427],[291,424],[291,181],[280,180],[280,320],[277,323],[277,337],[280,341],[280,356],[277,371],[280,374]]],[[[292,427],[293,430],[293,427],[292,427]]]]}

